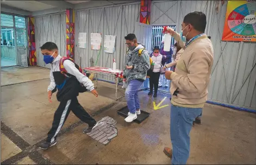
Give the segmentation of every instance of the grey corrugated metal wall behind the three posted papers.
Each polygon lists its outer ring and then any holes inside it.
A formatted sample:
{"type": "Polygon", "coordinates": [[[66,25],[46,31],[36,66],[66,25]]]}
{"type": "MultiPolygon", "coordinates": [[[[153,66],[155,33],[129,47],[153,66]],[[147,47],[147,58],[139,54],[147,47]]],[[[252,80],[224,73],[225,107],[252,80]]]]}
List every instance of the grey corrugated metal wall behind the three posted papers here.
{"type": "MultiPolygon", "coordinates": [[[[76,31],[76,50],[75,61],[82,67],[90,67],[90,58],[96,63],[99,53],[98,66],[113,67],[113,58],[116,60],[116,68],[123,69],[124,54],[126,45],[124,36],[129,33],[135,33],[135,25],[139,19],[140,2],[116,6],[104,6],[99,8],[84,9],[76,11],[75,31],[76,31]],[[79,32],[87,33],[86,49],[78,48],[79,32]],[[104,35],[116,36],[116,51],[114,54],[105,53],[102,50],[91,50],[90,34],[102,33],[104,35]]],[[[101,77],[107,80],[113,80],[110,77],[101,77]]]]}

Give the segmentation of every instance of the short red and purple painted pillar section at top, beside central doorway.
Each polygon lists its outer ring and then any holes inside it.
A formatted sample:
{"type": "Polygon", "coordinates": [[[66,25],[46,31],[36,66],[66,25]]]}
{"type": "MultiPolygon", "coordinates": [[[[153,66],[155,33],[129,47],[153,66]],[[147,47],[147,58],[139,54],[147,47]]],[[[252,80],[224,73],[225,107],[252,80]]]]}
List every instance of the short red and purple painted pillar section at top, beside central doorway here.
{"type": "Polygon", "coordinates": [[[140,23],[150,24],[151,0],[141,0],[140,23]]]}

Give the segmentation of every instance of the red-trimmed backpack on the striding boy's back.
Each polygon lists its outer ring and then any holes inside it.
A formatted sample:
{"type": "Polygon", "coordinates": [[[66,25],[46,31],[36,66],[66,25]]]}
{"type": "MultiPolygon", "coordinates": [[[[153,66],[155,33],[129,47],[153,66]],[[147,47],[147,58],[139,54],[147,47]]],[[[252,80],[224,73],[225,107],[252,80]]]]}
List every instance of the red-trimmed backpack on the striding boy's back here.
{"type": "MultiPolygon", "coordinates": [[[[68,76],[68,77],[74,77],[73,75],[69,74],[69,73],[66,71],[66,69],[64,68],[63,63],[64,63],[65,60],[70,60],[70,61],[72,61],[72,62],[74,63],[74,60],[73,60],[72,58],[61,57],[61,58],[60,58],[60,64],[59,64],[61,74],[64,74],[65,76],[68,76]]],[[[75,65],[75,67],[76,67],[83,75],[85,75],[85,76],[87,76],[87,77],[90,76],[89,73],[86,73],[86,74],[85,74],[85,72],[83,71],[83,69],[82,69],[79,65],[77,65],[76,63],[74,63],[74,65],[75,65]]],[[[75,78],[76,78],[76,77],[75,77],[75,78]]],[[[92,80],[91,80],[91,81],[92,81],[92,80]]],[[[84,93],[85,91],[87,91],[86,87],[84,87],[84,85],[80,83],[79,93],[84,93]]]]}

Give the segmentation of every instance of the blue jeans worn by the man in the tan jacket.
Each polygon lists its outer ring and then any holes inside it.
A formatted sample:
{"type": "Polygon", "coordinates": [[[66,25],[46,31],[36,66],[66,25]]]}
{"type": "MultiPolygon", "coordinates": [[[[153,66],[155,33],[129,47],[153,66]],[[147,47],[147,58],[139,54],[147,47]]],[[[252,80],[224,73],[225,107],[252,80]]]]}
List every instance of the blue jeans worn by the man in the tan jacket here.
{"type": "Polygon", "coordinates": [[[172,164],[186,164],[190,151],[190,130],[202,108],[185,108],[171,105],[172,164]]]}

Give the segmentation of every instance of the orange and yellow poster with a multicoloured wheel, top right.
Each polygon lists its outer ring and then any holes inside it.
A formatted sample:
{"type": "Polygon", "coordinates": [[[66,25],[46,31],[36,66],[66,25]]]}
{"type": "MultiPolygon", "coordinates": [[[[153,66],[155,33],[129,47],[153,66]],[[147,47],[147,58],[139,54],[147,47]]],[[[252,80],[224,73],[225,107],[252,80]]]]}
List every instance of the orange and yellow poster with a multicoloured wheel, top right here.
{"type": "Polygon", "coordinates": [[[228,1],[222,41],[256,42],[256,1],[228,1]]]}

